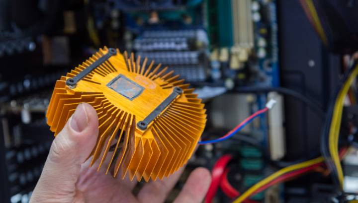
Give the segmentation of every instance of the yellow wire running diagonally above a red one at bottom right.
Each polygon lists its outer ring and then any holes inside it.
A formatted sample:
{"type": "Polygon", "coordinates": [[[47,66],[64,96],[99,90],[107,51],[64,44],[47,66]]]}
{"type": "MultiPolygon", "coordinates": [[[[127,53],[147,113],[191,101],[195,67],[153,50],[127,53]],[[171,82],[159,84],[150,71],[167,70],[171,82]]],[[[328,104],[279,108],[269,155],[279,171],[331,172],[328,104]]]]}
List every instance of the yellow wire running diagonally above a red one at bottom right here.
{"type": "Polygon", "coordinates": [[[269,175],[267,178],[261,180],[260,182],[256,183],[255,185],[253,185],[251,188],[249,188],[245,193],[243,193],[239,198],[237,198],[233,203],[242,203],[244,200],[246,200],[247,198],[249,198],[252,194],[255,193],[255,191],[257,191],[258,189],[260,189],[261,187],[263,187],[264,185],[268,184],[270,181],[274,180],[275,178],[297,170],[297,169],[301,169],[307,166],[311,166],[313,164],[316,163],[320,163],[323,162],[324,158],[322,156],[315,158],[315,159],[311,159],[308,161],[304,161],[302,163],[298,163],[298,164],[294,164],[292,166],[287,166],[285,168],[282,168],[276,172],[274,172],[273,174],[269,175]]]}

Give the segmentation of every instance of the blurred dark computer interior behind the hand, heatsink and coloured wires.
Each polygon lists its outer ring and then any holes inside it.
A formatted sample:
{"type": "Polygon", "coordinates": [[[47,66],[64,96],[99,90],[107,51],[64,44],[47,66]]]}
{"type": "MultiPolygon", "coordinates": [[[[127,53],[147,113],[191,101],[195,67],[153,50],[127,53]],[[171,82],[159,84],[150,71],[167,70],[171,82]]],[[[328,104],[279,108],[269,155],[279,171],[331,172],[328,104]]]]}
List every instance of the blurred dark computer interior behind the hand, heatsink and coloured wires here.
{"type": "MultiPolygon", "coordinates": [[[[0,202],[29,201],[53,139],[45,112],[55,81],[103,46],[169,66],[197,88],[208,110],[203,140],[277,100],[232,140],[200,146],[168,202],[190,170],[212,169],[223,154],[235,157],[227,179],[241,192],[319,155],[324,113],[358,47],[357,11],[356,0],[0,0],[0,202]]],[[[341,129],[351,145],[356,96],[352,88],[341,129]]],[[[355,155],[350,148],[343,161],[350,194],[355,155]]],[[[322,170],[251,199],[347,202],[322,170]]],[[[231,199],[219,189],[213,202],[231,199]]]]}

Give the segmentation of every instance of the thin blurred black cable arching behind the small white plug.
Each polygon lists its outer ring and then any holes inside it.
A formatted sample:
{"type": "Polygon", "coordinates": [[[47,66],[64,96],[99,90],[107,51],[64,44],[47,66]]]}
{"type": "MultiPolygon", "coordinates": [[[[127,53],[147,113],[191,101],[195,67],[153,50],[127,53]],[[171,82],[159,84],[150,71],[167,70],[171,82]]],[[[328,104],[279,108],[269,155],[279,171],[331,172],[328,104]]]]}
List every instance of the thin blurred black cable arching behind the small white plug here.
{"type": "Polygon", "coordinates": [[[311,110],[315,111],[321,118],[325,117],[323,108],[317,101],[315,101],[314,99],[310,99],[292,89],[288,89],[284,87],[238,87],[235,89],[235,92],[239,92],[239,93],[278,92],[300,100],[301,102],[305,103],[311,110]]]}

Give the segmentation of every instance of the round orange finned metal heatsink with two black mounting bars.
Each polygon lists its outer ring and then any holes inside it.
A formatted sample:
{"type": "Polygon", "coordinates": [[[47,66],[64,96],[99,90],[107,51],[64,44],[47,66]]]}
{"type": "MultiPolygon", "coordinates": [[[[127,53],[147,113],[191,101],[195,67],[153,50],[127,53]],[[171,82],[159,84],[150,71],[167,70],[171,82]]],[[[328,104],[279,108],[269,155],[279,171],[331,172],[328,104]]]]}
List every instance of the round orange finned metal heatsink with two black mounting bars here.
{"type": "Polygon", "coordinates": [[[99,49],[86,62],[57,80],[47,110],[47,124],[55,136],[78,104],[96,110],[99,135],[91,152],[91,166],[109,160],[106,173],[132,180],[162,179],[183,166],[202,134],[204,104],[179,75],[161,65],[148,66],[118,49],[99,49]],[[112,151],[111,155],[109,155],[112,151]]]}

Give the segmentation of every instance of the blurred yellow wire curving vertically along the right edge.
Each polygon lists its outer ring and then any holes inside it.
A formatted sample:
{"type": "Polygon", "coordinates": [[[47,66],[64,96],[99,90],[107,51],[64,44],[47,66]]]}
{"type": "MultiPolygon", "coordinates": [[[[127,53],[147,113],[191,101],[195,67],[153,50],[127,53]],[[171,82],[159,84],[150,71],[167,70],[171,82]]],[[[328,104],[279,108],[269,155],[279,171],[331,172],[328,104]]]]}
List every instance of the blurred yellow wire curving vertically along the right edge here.
{"type": "Polygon", "coordinates": [[[352,85],[352,82],[357,77],[357,75],[358,75],[358,65],[355,67],[352,74],[349,76],[349,78],[343,85],[336,99],[331,127],[330,127],[330,133],[329,133],[329,150],[332,156],[333,163],[335,164],[337,169],[338,179],[341,189],[343,188],[344,176],[343,176],[343,169],[342,169],[341,161],[339,158],[339,151],[338,151],[339,133],[341,129],[344,101],[352,85]]]}

